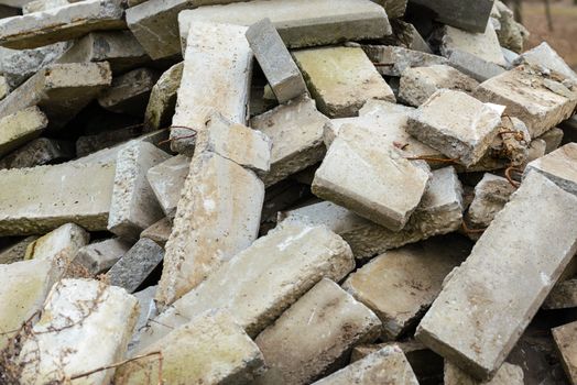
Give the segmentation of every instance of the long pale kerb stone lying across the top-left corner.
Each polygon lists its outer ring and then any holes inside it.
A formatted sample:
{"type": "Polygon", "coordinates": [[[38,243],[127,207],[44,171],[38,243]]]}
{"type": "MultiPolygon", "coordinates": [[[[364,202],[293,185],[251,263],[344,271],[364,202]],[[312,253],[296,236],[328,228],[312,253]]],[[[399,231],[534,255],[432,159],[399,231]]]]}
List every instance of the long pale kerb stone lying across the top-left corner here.
{"type": "Polygon", "coordinates": [[[121,0],[86,0],[42,12],[0,20],[0,45],[35,48],[80,37],[97,30],[122,30],[121,0]]]}

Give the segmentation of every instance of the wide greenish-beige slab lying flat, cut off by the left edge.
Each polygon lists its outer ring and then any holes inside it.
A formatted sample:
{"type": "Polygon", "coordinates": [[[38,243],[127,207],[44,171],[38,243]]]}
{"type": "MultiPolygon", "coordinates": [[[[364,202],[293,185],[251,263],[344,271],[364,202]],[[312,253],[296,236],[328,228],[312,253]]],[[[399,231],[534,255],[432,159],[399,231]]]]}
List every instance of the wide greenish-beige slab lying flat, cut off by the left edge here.
{"type": "Polygon", "coordinates": [[[106,230],[113,180],[113,163],[0,170],[0,234],[37,234],[67,222],[106,230]]]}

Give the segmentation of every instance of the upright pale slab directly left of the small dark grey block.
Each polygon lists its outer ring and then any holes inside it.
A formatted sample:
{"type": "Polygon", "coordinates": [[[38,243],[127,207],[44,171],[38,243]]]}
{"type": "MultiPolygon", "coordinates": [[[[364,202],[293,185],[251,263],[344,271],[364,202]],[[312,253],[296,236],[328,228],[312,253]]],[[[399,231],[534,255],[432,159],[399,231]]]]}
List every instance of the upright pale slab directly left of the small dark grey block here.
{"type": "Polygon", "coordinates": [[[253,55],[246,32],[246,26],[231,24],[190,24],[172,121],[189,129],[171,130],[173,151],[192,156],[194,133],[205,130],[215,112],[232,123],[247,123],[253,55]]]}

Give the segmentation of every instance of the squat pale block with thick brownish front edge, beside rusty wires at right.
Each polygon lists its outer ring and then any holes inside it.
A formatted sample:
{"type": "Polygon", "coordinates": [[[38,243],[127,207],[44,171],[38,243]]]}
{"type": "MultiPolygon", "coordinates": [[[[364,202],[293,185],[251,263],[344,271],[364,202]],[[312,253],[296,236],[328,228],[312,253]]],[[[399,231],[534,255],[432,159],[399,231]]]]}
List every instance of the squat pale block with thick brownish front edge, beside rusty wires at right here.
{"type": "Polygon", "coordinates": [[[499,107],[461,92],[442,89],[409,118],[407,131],[465,166],[479,162],[501,125],[499,107]]]}

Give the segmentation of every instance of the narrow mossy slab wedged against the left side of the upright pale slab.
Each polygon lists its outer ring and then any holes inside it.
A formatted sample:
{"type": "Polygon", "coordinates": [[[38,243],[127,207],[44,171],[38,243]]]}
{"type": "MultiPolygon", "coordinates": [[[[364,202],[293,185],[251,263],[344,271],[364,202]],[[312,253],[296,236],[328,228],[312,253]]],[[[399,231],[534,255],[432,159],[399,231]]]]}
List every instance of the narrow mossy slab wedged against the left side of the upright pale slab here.
{"type": "Polygon", "coordinates": [[[161,75],[152,87],[144,112],[144,130],[154,131],[171,124],[176,107],[176,94],[181,87],[184,63],[175,64],[161,75]]]}

